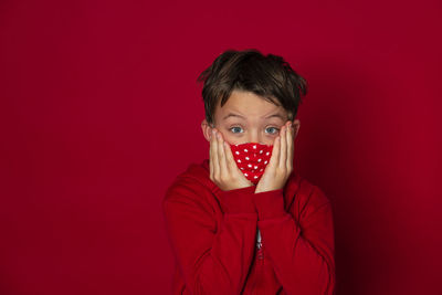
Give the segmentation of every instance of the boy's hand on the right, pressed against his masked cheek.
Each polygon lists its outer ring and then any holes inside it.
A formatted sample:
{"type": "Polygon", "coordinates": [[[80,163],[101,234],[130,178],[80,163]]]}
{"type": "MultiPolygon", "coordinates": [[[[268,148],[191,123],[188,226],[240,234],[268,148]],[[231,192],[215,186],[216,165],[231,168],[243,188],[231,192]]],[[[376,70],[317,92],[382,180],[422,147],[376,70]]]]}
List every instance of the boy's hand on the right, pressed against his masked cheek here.
{"type": "Polygon", "coordinates": [[[273,144],[272,157],[256,185],[255,193],[282,189],[293,171],[293,126],[287,122],[273,144]]]}

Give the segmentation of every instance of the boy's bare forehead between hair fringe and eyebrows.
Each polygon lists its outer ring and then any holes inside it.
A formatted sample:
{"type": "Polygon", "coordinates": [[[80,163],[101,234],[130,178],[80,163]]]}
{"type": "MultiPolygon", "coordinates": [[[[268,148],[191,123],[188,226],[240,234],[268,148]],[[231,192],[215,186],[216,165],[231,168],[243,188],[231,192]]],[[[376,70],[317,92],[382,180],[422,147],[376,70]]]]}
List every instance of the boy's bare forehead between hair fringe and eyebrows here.
{"type": "Polygon", "coordinates": [[[271,115],[276,115],[273,118],[283,120],[287,118],[287,112],[281,105],[275,105],[252,92],[236,89],[231,93],[222,107],[221,102],[218,103],[214,115],[218,120],[236,117],[234,115],[250,119],[264,119],[271,115]]]}

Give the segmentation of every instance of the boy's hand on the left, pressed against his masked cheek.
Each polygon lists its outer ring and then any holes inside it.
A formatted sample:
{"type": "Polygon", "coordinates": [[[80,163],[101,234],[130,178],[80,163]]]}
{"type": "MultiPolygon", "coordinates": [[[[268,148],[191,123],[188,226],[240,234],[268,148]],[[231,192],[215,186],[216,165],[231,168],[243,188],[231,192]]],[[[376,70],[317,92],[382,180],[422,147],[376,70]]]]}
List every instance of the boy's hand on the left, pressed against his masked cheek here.
{"type": "Polygon", "coordinates": [[[238,168],[232,150],[222,135],[212,129],[210,137],[210,180],[221,190],[233,190],[253,186],[238,168]]]}

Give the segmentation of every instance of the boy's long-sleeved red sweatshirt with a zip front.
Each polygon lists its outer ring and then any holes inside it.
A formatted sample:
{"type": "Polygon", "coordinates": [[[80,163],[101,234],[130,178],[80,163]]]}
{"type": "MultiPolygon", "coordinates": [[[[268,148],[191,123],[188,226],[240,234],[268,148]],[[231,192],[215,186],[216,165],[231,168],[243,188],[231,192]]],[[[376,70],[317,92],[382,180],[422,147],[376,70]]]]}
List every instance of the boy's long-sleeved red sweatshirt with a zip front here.
{"type": "Polygon", "coordinates": [[[210,180],[209,159],[176,178],[162,202],[177,262],[172,294],[334,294],[324,192],[295,172],[283,189],[255,188],[222,191],[210,180]]]}

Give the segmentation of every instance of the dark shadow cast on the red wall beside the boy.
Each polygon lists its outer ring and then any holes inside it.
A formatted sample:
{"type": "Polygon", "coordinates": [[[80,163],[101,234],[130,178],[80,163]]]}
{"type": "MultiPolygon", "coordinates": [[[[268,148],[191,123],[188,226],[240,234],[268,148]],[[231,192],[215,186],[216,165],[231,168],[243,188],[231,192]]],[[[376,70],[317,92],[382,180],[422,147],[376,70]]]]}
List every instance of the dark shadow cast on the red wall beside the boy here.
{"type": "Polygon", "coordinates": [[[396,262],[379,241],[394,233],[385,228],[391,217],[382,211],[382,192],[377,191],[376,182],[387,180],[379,172],[373,176],[373,159],[382,150],[375,138],[381,126],[372,124],[376,99],[382,96],[377,83],[382,82],[338,61],[315,61],[305,69],[312,74],[305,76],[309,92],[299,106],[295,167],[332,201],[336,294],[373,294],[378,287],[386,292],[389,265],[396,262]]]}

